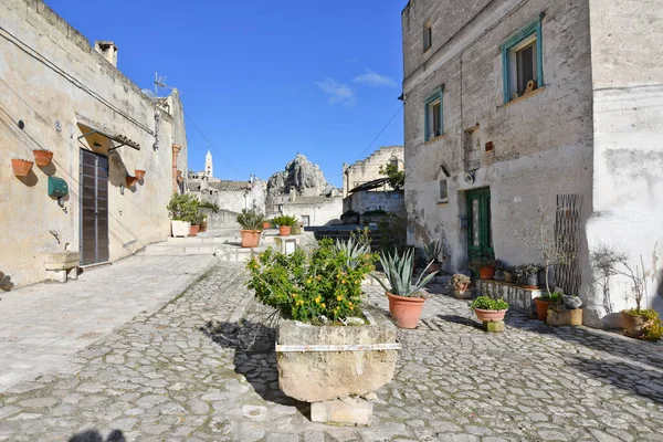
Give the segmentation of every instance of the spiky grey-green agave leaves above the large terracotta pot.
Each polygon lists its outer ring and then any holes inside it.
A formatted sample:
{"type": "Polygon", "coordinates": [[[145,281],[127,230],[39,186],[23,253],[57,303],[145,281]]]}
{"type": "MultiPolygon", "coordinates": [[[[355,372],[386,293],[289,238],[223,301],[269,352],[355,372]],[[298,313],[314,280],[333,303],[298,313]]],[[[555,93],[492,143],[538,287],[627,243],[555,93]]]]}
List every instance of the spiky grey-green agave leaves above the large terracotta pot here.
{"type": "Polygon", "coordinates": [[[428,271],[428,267],[432,264],[431,261],[417,282],[412,284],[412,269],[414,265],[412,250],[408,250],[402,256],[399,255],[398,251],[394,251],[393,255],[391,253],[381,253],[380,263],[382,264],[385,275],[389,281],[389,287],[377,275],[371,274],[371,276],[377,280],[387,292],[398,296],[421,297],[417,295],[419,291],[425,287],[438,273],[434,272],[424,276],[425,271],[428,271]]]}

